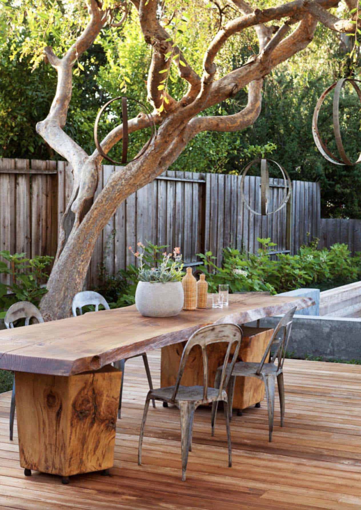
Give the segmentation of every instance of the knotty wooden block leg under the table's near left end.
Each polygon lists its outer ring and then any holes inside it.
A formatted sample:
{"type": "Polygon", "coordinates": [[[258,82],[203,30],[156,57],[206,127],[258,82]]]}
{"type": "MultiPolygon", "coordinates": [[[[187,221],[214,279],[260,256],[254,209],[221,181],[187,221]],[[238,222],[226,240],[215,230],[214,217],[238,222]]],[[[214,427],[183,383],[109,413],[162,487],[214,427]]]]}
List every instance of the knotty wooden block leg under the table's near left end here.
{"type": "Polygon", "coordinates": [[[114,463],[121,372],[15,372],[20,466],[66,477],[114,463]]]}

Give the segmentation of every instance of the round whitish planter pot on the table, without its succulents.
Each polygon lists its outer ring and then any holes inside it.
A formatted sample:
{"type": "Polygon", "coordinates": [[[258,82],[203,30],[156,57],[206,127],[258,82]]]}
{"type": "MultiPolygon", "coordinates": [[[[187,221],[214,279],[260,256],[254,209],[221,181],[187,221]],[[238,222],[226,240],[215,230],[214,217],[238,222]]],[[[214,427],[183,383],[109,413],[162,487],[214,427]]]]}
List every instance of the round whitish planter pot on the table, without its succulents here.
{"type": "Polygon", "coordinates": [[[145,317],[171,317],[183,308],[182,282],[138,282],[136,307],[145,317]]]}

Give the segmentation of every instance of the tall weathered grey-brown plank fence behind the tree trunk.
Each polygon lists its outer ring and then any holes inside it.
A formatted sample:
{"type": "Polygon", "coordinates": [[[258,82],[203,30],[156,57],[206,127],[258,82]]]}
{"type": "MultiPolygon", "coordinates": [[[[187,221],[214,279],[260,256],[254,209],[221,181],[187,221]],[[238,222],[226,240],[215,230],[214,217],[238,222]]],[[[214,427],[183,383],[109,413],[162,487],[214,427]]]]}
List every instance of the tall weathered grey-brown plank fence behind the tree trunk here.
{"type": "MultiPolygon", "coordinates": [[[[104,165],[96,194],[118,167],[104,165]]],[[[211,250],[221,263],[222,249],[234,246],[255,252],[257,237],[270,237],[276,251],[294,253],[310,237],[320,237],[320,187],[293,182],[287,207],[256,216],[241,200],[241,177],[167,171],[129,196],[99,236],[88,285],[98,281],[99,266],[110,274],[134,262],[128,249],[137,241],[180,246],[187,264],[211,250]]],[[[71,167],[62,161],[0,159],[0,249],[30,257],[54,255],[60,219],[73,185],[71,167]]],[[[247,176],[245,197],[260,210],[260,177],[247,176]]],[[[283,180],[270,179],[270,210],[282,199],[283,180]]]]}

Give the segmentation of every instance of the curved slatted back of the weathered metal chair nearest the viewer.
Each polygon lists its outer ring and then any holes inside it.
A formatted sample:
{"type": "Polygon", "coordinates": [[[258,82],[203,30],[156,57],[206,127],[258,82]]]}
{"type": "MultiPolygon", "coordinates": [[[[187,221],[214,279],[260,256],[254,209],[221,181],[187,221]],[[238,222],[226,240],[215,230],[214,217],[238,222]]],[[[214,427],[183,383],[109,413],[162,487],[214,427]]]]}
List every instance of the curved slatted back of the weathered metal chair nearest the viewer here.
{"type": "Polygon", "coordinates": [[[179,384],[181,383],[183,372],[186,368],[187,360],[190,351],[195,345],[199,345],[202,349],[202,360],[203,360],[203,401],[207,400],[208,387],[209,387],[209,367],[208,367],[208,354],[207,346],[217,342],[228,343],[227,351],[224,356],[222,374],[219,385],[218,397],[220,398],[223,388],[227,387],[228,379],[235,366],[238,352],[242,341],[243,333],[242,329],[237,324],[213,324],[211,326],[205,326],[191,336],[183,349],[181,362],[179,363],[179,371],[177,380],[174,387],[172,400],[174,401],[177,395],[179,384]],[[233,354],[232,361],[230,363],[230,370],[228,360],[230,355],[230,349],[233,344],[236,343],[235,352],[233,354]]]}

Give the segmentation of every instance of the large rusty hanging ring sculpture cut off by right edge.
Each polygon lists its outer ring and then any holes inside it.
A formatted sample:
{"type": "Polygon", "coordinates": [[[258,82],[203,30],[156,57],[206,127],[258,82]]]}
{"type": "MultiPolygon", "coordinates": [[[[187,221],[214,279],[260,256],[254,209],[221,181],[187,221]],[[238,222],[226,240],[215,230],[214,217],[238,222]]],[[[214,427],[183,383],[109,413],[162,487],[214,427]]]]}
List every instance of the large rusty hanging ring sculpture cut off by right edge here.
{"type": "Polygon", "coordinates": [[[361,101],[361,90],[357,87],[356,82],[360,83],[360,80],[353,80],[352,78],[343,78],[342,80],[339,80],[336,83],[333,83],[330,87],[328,87],[327,90],[323,92],[323,94],[320,96],[319,100],[317,101],[316,108],[314,111],[314,115],[312,118],[312,134],[316,143],[316,146],[318,150],[321,152],[322,156],[331,163],[334,163],[335,165],[357,165],[361,161],[361,153],[358,156],[357,161],[352,162],[348,159],[346,156],[346,152],[344,149],[344,146],[342,145],[342,138],[341,138],[341,131],[340,131],[340,118],[339,118],[339,103],[340,103],[340,92],[345,84],[345,82],[350,82],[355,89],[359,100],[361,101]],[[336,158],[332,154],[332,152],[328,149],[327,145],[322,141],[320,133],[318,131],[317,121],[318,121],[318,114],[320,113],[320,109],[322,106],[322,103],[326,97],[326,95],[334,89],[333,94],[333,110],[332,110],[332,117],[333,117],[333,131],[334,136],[336,138],[336,144],[339,151],[339,155],[341,159],[336,158]]]}

